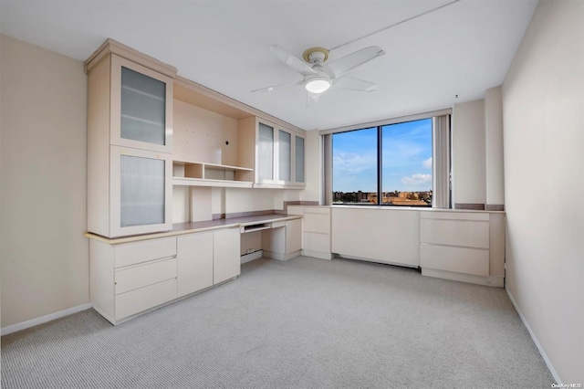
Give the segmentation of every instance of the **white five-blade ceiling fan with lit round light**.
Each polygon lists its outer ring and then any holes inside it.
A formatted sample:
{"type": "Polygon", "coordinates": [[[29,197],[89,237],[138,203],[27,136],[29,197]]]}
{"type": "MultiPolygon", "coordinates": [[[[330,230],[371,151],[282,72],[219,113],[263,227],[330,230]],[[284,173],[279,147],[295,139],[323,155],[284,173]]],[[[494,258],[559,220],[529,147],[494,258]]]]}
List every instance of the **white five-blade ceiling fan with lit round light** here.
{"type": "MultiPolygon", "coordinates": [[[[381,57],[385,54],[380,47],[371,46],[361,48],[348,56],[339,58],[333,62],[327,63],[328,49],[324,47],[308,48],[302,55],[304,61],[294,57],[284,48],[277,45],[269,47],[272,54],[286,63],[287,66],[296,70],[303,79],[300,81],[289,82],[286,84],[274,85],[267,88],[255,89],[253,92],[266,91],[271,92],[275,89],[289,87],[293,85],[304,85],[308,91],[308,98],[318,100],[320,93],[329,88],[351,89],[366,92],[377,90],[377,85],[363,79],[354,79],[345,75],[349,70],[369,62],[371,59],[381,57]],[[306,62],[305,62],[306,61],[306,62]]],[[[308,99],[308,104],[310,100],[308,99]]]]}

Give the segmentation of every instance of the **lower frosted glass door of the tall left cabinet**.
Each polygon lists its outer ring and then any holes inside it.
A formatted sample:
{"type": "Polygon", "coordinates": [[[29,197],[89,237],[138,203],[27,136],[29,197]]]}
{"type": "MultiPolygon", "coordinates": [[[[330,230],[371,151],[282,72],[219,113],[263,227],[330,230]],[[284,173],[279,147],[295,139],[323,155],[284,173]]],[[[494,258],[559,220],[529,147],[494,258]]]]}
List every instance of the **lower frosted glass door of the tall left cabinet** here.
{"type": "Polygon", "coordinates": [[[112,237],[172,229],[172,155],[111,146],[112,237]]]}

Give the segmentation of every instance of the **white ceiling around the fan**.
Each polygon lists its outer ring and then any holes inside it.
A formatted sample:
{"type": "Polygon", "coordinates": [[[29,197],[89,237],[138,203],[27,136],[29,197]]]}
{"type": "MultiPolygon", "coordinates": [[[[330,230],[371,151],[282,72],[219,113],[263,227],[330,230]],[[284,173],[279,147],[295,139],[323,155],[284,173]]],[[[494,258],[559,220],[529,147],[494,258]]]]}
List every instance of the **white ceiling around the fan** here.
{"type": "Polygon", "coordinates": [[[360,39],[329,60],[376,45],[387,54],[349,71],[373,93],[330,89],[306,108],[302,79],[267,47],[301,58],[452,0],[0,0],[0,31],[85,60],[108,37],[305,130],[377,121],[481,99],[501,85],[537,0],[461,0],[360,39]],[[458,95],[458,100],[454,96],[458,95]]]}

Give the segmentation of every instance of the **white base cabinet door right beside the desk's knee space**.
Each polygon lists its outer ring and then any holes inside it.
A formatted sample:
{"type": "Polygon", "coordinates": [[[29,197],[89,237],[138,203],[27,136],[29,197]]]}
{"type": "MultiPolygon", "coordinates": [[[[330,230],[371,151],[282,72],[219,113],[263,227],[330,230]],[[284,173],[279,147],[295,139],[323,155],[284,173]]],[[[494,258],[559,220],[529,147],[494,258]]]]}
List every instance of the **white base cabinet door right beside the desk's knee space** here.
{"type": "Polygon", "coordinates": [[[241,274],[239,228],[225,228],[213,233],[213,283],[218,284],[241,274]]]}

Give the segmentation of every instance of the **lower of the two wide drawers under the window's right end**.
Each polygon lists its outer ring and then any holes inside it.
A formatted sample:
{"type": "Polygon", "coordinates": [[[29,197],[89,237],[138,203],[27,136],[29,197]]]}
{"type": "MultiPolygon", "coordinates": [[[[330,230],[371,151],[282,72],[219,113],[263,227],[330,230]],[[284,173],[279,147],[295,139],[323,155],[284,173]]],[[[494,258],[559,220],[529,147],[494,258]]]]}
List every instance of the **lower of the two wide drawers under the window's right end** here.
{"type": "Polygon", "coordinates": [[[489,251],[422,244],[420,246],[420,266],[476,276],[488,276],[489,251]]]}

